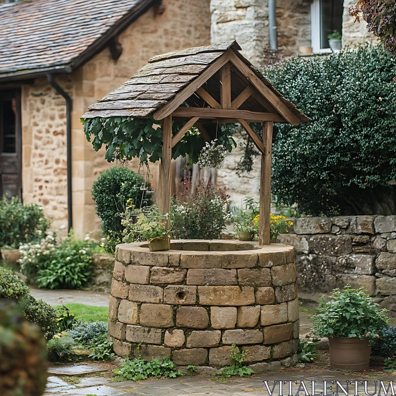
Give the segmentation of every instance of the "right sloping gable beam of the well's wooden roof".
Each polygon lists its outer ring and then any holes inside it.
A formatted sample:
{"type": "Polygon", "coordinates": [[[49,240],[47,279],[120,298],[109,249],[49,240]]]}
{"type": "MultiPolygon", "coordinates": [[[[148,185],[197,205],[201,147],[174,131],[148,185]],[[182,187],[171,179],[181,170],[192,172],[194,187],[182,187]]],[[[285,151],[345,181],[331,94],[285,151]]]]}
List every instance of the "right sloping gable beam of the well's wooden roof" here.
{"type": "Polygon", "coordinates": [[[230,60],[235,67],[237,67],[241,73],[243,73],[247,79],[254,85],[254,87],[263,95],[275,108],[279,111],[280,114],[291,124],[298,125],[300,123],[297,115],[293,113],[293,111],[280,99],[278,96],[267,87],[244,63],[235,53],[234,51],[230,52],[230,60]]]}

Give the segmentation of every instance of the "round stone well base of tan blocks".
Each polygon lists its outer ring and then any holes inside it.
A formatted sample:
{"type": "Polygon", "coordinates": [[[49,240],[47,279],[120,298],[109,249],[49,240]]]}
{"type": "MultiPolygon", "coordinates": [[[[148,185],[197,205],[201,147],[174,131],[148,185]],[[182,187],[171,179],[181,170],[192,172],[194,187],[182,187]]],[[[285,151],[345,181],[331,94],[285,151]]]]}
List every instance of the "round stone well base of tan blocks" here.
{"type": "Polygon", "coordinates": [[[116,249],[109,338],[119,356],[170,356],[207,374],[236,344],[254,371],[297,362],[294,248],[241,241],[172,241],[116,249]]]}

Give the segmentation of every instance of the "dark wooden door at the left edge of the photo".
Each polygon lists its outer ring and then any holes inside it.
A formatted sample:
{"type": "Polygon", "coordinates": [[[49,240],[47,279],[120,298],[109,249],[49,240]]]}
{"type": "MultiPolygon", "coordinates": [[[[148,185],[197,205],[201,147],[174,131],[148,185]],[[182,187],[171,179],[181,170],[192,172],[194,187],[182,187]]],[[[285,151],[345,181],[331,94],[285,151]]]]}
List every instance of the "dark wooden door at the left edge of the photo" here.
{"type": "Polygon", "coordinates": [[[0,196],[22,198],[20,90],[0,91],[0,196]]]}

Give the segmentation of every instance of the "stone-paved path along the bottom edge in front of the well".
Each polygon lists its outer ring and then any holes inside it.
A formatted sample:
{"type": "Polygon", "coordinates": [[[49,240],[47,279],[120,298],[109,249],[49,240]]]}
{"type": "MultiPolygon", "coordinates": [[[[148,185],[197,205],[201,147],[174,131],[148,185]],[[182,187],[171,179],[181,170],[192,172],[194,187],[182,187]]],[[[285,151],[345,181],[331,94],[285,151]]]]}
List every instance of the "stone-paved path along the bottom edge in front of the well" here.
{"type": "MultiPolygon", "coordinates": [[[[63,377],[64,378],[64,377],[63,377]]],[[[69,385],[57,377],[49,377],[47,391],[44,396],[68,395],[68,396],[268,396],[263,381],[268,381],[270,389],[274,381],[297,381],[297,385],[292,385],[292,394],[296,395],[300,381],[307,387],[311,395],[311,381],[316,381],[316,394],[323,392],[323,381],[340,381],[341,385],[346,388],[346,381],[368,381],[368,393],[375,393],[374,380],[377,381],[394,381],[396,389],[396,376],[375,377],[358,376],[353,374],[344,374],[342,372],[323,371],[315,374],[296,371],[296,369],[286,370],[284,372],[259,374],[248,378],[232,378],[230,383],[217,383],[211,377],[206,376],[183,376],[163,380],[146,380],[139,383],[133,381],[110,382],[107,379],[98,377],[84,378],[76,385],[69,385]]],[[[279,383],[278,383],[279,384],[279,383]]],[[[328,386],[331,384],[328,383],[328,386]]],[[[388,384],[386,384],[388,387],[388,384]]],[[[335,391],[333,387],[332,391],[335,391]]],[[[329,389],[329,388],[328,388],[329,389]]],[[[332,392],[329,389],[328,395],[332,392]]],[[[378,395],[379,385],[376,391],[378,395]]],[[[383,393],[382,393],[383,394],[383,393]]],[[[279,385],[276,385],[274,396],[279,395],[279,385]]],[[[289,395],[289,384],[283,385],[283,395],[289,395]]],[[[300,391],[300,396],[305,395],[300,391]]],[[[344,395],[339,389],[339,395],[344,395]]],[[[354,395],[354,385],[349,385],[349,395],[354,395]]],[[[358,395],[365,395],[362,385],[358,388],[358,395]]],[[[388,393],[391,395],[391,392],[388,393]]]]}

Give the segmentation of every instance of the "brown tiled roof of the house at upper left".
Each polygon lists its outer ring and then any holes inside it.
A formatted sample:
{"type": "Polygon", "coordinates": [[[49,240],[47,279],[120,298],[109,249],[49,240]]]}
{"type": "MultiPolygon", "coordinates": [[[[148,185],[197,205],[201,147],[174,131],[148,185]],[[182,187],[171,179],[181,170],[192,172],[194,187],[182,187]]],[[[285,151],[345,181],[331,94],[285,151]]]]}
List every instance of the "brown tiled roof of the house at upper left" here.
{"type": "MultiPolygon", "coordinates": [[[[152,0],[20,0],[0,5],[0,78],[77,66],[152,0]]],[[[85,61],[88,58],[85,59],[85,61]]]]}

